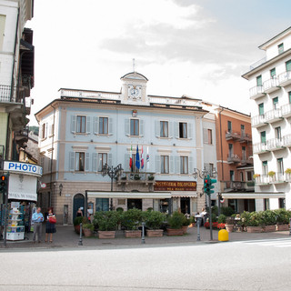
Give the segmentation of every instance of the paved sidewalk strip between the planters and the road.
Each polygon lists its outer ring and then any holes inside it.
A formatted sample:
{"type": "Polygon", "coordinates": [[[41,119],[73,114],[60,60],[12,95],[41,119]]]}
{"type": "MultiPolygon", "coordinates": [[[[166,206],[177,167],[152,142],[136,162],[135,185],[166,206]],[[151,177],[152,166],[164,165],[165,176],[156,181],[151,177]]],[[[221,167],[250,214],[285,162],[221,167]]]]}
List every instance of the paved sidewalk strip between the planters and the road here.
{"type": "MultiPolygon", "coordinates": [[[[108,248],[115,247],[126,247],[126,246],[141,246],[141,238],[125,238],[123,231],[116,231],[115,239],[99,239],[95,237],[84,237],[83,246],[78,246],[79,235],[75,234],[74,226],[56,226],[56,233],[54,234],[53,243],[45,243],[45,227],[43,227],[42,243],[33,244],[33,234],[28,234],[28,240],[25,241],[7,241],[6,247],[4,242],[0,241],[0,250],[4,249],[20,249],[20,248],[31,248],[32,250],[43,249],[43,248],[65,248],[65,247],[79,247],[79,248],[108,248]]],[[[188,228],[185,236],[163,236],[163,237],[147,237],[146,246],[170,246],[170,245],[188,245],[188,244],[206,244],[210,243],[210,230],[205,227],[200,227],[201,241],[197,241],[197,228],[188,228]]],[[[274,238],[288,238],[289,231],[273,232],[273,233],[259,233],[249,234],[243,233],[230,233],[229,241],[243,241],[243,240],[256,240],[256,239],[274,239],[274,238]]],[[[218,231],[213,230],[213,242],[218,242],[218,231]]],[[[143,245],[145,246],[145,245],[143,245]]]]}

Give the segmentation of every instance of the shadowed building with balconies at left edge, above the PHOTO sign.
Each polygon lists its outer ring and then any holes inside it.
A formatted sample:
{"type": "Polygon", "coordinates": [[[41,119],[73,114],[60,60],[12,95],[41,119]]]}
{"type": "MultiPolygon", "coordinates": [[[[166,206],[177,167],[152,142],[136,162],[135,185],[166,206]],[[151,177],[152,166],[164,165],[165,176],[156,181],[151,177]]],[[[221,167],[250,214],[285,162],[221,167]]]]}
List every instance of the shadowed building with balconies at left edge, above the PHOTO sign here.
{"type": "Polygon", "coordinates": [[[18,160],[28,140],[30,90],[34,87],[34,1],[0,1],[0,151],[5,160],[18,160]]]}

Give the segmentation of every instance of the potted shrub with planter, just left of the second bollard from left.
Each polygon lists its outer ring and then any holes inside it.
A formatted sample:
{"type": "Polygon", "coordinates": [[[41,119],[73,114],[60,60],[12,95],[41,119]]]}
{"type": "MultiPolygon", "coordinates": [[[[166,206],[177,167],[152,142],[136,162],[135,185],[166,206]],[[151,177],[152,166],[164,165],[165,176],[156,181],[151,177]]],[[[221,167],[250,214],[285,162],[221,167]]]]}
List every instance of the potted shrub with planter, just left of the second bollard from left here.
{"type": "Polygon", "coordinates": [[[121,224],[125,226],[125,237],[141,237],[141,231],[138,229],[142,222],[142,211],[140,209],[129,209],[123,212],[121,224]]]}

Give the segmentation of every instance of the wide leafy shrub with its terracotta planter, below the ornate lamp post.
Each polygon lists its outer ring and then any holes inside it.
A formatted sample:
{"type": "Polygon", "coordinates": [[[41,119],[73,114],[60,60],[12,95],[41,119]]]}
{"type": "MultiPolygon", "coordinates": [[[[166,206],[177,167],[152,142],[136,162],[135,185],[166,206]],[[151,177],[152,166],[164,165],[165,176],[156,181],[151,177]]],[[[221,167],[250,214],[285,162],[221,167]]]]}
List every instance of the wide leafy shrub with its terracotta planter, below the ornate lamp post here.
{"type": "Polygon", "coordinates": [[[119,216],[117,211],[95,212],[93,223],[95,226],[98,226],[99,238],[115,238],[119,216]]]}

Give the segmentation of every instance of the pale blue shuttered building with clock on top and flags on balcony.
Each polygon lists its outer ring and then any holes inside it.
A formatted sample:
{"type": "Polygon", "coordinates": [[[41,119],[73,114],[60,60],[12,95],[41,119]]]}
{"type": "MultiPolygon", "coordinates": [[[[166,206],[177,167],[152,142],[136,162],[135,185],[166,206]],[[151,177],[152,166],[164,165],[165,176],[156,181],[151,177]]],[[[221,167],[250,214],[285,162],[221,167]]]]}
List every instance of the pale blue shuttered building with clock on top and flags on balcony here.
{"type": "Polygon", "coordinates": [[[189,214],[205,206],[193,172],[216,167],[215,118],[200,99],[147,95],[147,82],[132,72],[121,77],[121,92],[62,88],[35,114],[46,184],[39,200],[64,223],[79,206],[189,214]],[[123,169],[112,192],[105,165],[123,169]]]}

